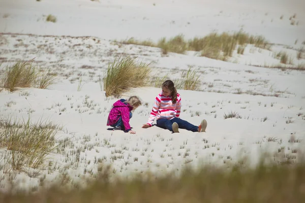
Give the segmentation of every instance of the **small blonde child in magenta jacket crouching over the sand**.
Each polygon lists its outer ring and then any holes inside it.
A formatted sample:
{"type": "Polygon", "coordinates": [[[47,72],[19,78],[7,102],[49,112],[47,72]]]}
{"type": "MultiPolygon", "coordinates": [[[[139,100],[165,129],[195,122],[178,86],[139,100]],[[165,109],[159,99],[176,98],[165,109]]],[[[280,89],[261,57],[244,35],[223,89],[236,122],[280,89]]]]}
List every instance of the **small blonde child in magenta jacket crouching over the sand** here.
{"type": "Polygon", "coordinates": [[[113,130],[125,130],[125,132],[135,134],[136,132],[131,130],[129,120],[132,117],[131,111],[141,105],[141,100],[137,96],[131,96],[128,100],[119,99],[115,101],[109,112],[107,125],[113,127],[113,130]]]}

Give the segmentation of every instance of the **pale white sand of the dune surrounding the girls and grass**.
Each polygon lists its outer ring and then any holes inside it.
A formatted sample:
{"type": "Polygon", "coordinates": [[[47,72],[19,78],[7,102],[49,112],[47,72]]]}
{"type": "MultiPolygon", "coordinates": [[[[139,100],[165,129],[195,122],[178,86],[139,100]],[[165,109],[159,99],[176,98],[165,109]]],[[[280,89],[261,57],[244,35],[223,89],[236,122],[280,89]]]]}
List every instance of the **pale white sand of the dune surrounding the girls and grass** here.
{"type": "MultiPolygon", "coordinates": [[[[301,153],[304,149],[305,141],[291,143],[289,139],[291,134],[305,139],[305,72],[252,66],[279,64],[272,53],[283,49],[293,56],[295,65],[305,63],[296,59],[295,50],[305,41],[303,1],[1,0],[0,5],[0,68],[4,70],[19,59],[35,58],[36,65],[51,67],[60,76],[48,89],[3,90],[0,115],[26,119],[30,114],[33,121],[48,118],[65,126],[57,139],[71,141],[62,152],[51,155],[50,167],[36,178],[14,173],[12,180],[0,170],[3,190],[12,182],[31,189],[44,178],[56,181],[65,173],[76,182],[94,178],[99,162],[111,163],[115,175],[128,176],[136,171],[180,170],[200,161],[230,165],[240,156],[248,156],[255,164],[259,150],[275,153],[285,147],[281,153],[297,156],[293,150],[301,153]],[[298,25],[290,24],[294,13],[298,25]],[[56,16],[56,23],[45,21],[49,14],[56,16]],[[129,37],[157,41],[178,33],[192,38],[213,30],[240,28],[280,45],[272,51],[249,45],[244,55],[234,53],[231,62],[225,62],[191,51],[163,57],[159,48],[111,41],[129,37]],[[167,75],[172,80],[180,78],[189,66],[196,69],[201,79],[199,91],[178,90],[182,97],[180,117],[196,125],[206,119],[206,132],[141,128],[161,92],[156,87],[132,89],[122,95],[128,98],[135,94],[144,102],[130,122],[136,134],[108,129],[108,112],[117,98],[105,97],[99,76],[103,77],[108,62],[120,55],[152,62],[152,76],[167,75]],[[77,91],[80,80],[83,86],[77,91]],[[224,119],[229,112],[237,112],[240,118],[224,119]]],[[[0,153],[3,165],[7,151],[2,148],[0,153]]]]}

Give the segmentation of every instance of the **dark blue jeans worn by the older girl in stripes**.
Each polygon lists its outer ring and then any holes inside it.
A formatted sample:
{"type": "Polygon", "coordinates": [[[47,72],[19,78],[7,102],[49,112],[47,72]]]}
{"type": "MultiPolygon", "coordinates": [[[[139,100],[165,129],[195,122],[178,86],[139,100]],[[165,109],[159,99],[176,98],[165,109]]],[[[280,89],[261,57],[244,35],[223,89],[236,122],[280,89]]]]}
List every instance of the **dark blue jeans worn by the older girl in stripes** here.
{"type": "Polygon", "coordinates": [[[179,128],[181,128],[181,129],[187,129],[187,130],[190,130],[193,132],[198,132],[198,126],[193,125],[193,124],[189,123],[188,121],[182,120],[180,118],[173,118],[170,120],[165,119],[165,118],[158,119],[157,126],[164,128],[164,129],[168,129],[170,131],[173,131],[172,124],[174,122],[176,122],[179,125],[179,128]]]}

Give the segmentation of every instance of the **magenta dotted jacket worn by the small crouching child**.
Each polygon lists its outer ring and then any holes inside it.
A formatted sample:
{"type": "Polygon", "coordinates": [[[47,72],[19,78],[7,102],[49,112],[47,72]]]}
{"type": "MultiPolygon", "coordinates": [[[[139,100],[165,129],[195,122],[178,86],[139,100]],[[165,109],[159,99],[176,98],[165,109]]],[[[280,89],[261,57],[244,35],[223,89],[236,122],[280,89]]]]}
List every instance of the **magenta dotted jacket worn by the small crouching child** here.
{"type": "Polygon", "coordinates": [[[119,117],[121,117],[125,126],[125,130],[130,130],[131,127],[129,124],[129,112],[131,112],[132,109],[133,107],[130,106],[125,99],[115,101],[113,108],[109,112],[107,125],[115,124],[119,117]]]}

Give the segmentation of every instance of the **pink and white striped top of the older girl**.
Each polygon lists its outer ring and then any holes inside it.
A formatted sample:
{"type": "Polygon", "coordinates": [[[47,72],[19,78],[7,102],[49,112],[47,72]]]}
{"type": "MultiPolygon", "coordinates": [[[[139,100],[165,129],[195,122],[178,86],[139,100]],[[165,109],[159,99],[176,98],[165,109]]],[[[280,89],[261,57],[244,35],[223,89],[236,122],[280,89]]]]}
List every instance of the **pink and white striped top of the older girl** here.
{"type": "Polygon", "coordinates": [[[153,124],[155,119],[172,119],[179,117],[181,109],[181,96],[177,93],[176,103],[172,103],[171,96],[164,96],[162,93],[158,94],[155,99],[153,109],[150,112],[148,122],[150,126],[153,124]]]}

